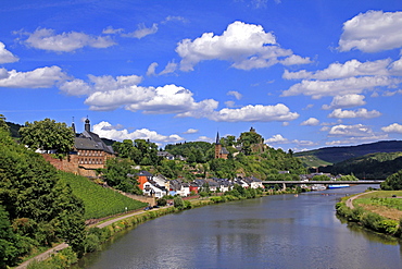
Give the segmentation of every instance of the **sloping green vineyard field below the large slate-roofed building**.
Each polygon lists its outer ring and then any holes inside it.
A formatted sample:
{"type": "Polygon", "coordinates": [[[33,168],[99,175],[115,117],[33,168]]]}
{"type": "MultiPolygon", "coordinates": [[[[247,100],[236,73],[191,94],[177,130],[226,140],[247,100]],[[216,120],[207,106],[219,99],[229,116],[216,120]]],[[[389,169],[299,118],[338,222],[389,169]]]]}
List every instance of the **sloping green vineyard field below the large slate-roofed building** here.
{"type": "Polygon", "coordinates": [[[128,198],[113,189],[102,187],[87,178],[66,172],[59,172],[61,181],[68,184],[73,194],[83,199],[85,219],[98,219],[127,210],[135,210],[147,206],[139,200],[128,198]]]}

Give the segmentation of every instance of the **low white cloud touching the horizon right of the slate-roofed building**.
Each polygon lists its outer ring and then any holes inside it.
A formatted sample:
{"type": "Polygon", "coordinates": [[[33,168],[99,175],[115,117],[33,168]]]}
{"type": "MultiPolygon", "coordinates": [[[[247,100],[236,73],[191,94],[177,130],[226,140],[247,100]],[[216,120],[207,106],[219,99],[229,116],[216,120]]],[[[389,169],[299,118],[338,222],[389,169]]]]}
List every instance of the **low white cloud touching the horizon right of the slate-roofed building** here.
{"type": "Polygon", "coordinates": [[[184,138],[177,134],[161,135],[161,134],[158,134],[155,131],[150,131],[148,129],[136,130],[131,133],[129,133],[126,129],[116,130],[112,124],[105,121],[95,124],[93,132],[97,133],[100,137],[115,139],[115,140],[150,139],[151,142],[159,142],[159,143],[175,143],[175,142],[184,140],[184,138]]]}

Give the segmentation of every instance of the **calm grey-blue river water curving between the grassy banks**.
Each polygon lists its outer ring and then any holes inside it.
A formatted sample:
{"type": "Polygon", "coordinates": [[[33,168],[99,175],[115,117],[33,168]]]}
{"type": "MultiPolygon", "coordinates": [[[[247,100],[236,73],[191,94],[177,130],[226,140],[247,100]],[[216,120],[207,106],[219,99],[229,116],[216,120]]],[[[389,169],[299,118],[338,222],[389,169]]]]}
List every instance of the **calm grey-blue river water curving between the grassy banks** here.
{"type": "Polygon", "coordinates": [[[367,186],[231,201],[125,232],[74,268],[402,268],[401,242],[335,216],[367,186]]]}

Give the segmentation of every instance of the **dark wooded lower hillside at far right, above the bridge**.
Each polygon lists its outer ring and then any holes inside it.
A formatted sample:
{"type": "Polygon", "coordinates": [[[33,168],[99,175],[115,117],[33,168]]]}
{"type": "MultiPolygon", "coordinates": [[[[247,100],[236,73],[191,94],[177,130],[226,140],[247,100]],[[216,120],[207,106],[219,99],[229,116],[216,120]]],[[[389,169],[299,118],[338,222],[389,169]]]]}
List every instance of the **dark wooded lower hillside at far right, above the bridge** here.
{"type": "Polygon", "coordinates": [[[402,169],[402,152],[378,152],[341,161],[319,170],[332,174],[353,173],[360,179],[380,180],[400,169],[402,169]]]}

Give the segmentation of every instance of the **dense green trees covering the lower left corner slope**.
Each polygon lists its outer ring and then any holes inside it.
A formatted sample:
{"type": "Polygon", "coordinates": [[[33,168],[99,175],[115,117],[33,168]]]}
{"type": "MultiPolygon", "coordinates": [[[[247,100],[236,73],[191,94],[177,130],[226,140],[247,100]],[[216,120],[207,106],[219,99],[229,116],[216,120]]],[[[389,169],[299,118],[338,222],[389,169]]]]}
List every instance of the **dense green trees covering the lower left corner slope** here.
{"type": "Polygon", "coordinates": [[[49,162],[17,145],[4,129],[0,129],[0,203],[7,212],[0,210],[0,222],[12,227],[12,232],[5,229],[1,235],[11,243],[2,245],[7,265],[15,265],[17,257],[34,247],[60,240],[80,252],[85,237],[81,200],[49,162]]]}

